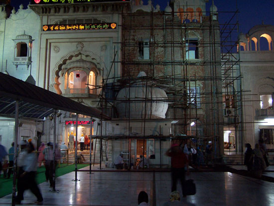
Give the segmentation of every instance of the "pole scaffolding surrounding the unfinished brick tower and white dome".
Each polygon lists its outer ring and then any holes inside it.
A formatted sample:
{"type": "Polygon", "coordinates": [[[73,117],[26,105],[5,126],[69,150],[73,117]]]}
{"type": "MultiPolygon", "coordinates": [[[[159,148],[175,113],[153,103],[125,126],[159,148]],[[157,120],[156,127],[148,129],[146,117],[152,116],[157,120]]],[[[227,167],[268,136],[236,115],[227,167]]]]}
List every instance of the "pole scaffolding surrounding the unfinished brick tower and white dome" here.
{"type": "Polygon", "coordinates": [[[238,11],[205,13],[184,7],[178,12],[154,12],[153,8],[150,12],[123,10],[119,25],[122,28],[122,41],[114,42],[112,67],[107,78],[103,74],[103,93],[98,105],[102,114],[107,113],[112,122],[126,122],[127,132],[110,135],[103,131],[104,123],[101,120],[100,135],[93,136],[94,139],[100,139],[100,168],[101,161],[108,161],[111,157],[108,147],[112,145],[108,142],[117,140],[124,141],[121,148],[129,155],[129,166],[133,150],[136,154],[137,143],[133,146],[133,141],[142,141],[142,156],[148,158],[151,155],[145,149],[146,140],[154,141],[154,155],[155,150],[159,151],[159,164],[156,165],[160,168],[166,149],[163,148],[163,142],[166,141],[188,144],[204,151],[210,140],[214,143],[215,161],[221,162],[224,155],[224,129],[233,130],[235,134],[233,142],[231,139],[228,141],[232,145],[229,148],[235,148],[232,151],[236,154],[243,151],[240,54],[235,54],[238,45],[238,11]],[[220,15],[231,18],[219,23],[220,15]],[[122,72],[116,76],[119,64],[122,72]],[[146,76],[137,77],[142,71],[146,76]],[[144,88],[144,96],[131,96],[131,89],[136,85],[144,88]],[[129,96],[117,98],[123,88],[128,88],[129,96]],[[167,97],[153,97],[153,88],[163,89],[167,97]],[[123,119],[117,113],[119,102],[126,105],[127,115],[123,119]],[[152,105],[157,102],[168,103],[165,119],[152,114],[152,105]],[[140,118],[131,117],[132,103],[143,104],[144,111],[140,118]],[[171,125],[168,135],[163,134],[161,126],[157,129],[157,135],[146,134],[146,124],[163,120],[176,122],[171,125]],[[136,123],[142,125],[140,134],[132,131],[132,125],[136,123]]]}

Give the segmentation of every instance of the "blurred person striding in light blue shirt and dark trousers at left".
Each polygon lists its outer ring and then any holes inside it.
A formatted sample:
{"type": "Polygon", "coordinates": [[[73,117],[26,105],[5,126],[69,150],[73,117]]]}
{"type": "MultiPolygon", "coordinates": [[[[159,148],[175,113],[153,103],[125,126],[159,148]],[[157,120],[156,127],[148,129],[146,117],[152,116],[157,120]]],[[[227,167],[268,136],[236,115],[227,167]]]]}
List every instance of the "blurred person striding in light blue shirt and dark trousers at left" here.
{"type": "Polygon", "coordinates": [[[29,189],[37,198],[37,201],[34,203],[35,205],[43,204],[43,197],[40,192],[40,189],[37,186],[35,181],[36,175],[36,164],[37,164],[37,156],[33,153],[34,147],[32,143],[29,143],[26,147],[26,155],[22,162],[22,170],[23,173],[19,175],[18,183],[20,184],[17,187],[18,193],[16,196],[16,204],[21,204],[21,201],[24,199],[24,191],[29,189]]]}

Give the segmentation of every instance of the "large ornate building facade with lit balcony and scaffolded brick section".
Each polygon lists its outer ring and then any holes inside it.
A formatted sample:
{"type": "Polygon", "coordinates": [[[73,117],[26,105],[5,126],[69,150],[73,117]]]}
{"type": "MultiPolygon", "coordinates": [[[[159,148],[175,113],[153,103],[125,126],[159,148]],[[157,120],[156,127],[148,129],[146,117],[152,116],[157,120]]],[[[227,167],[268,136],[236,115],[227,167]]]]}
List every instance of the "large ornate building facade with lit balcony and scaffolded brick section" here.
{"type": "MultiPolygon", "coordinates": [[[[141,0],[32,3],[10,14],[1,6],[1,71],[109,115],[111,121],[93,125],[92,117],[79,116],[77,138],[100,138],[103,161],[125,153],[130,163],[143,154],[154,155],[151,166],[168,165],[172,142],[209,140],[220,157],[220,27],[216,6],[206,15],[206,3],[174,0],[164,11],[141,0]]],[[[76,114],[61,113],[57,141],[67,143],[76,114]]],[[[3,120],[12,128],[13,120],[3,120]]],[[[21,122],[32,132],[25,139],[53,139],[49,117],[21,122]]],[[[14,136],[7,133],[6,147],[14,136]]]]}

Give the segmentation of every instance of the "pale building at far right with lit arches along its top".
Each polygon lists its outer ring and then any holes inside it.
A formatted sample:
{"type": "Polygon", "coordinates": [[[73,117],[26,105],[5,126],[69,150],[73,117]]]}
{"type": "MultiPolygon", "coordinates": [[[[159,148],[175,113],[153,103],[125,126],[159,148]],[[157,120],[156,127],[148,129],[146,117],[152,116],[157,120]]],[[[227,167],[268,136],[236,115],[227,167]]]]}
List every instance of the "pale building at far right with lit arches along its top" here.
{"type": "Polygon", "coordinates": [[[244,143],[263,138],[274,149],[274,26],[256,25],[241,34],[240,59],[245,122],[244,143]]]}

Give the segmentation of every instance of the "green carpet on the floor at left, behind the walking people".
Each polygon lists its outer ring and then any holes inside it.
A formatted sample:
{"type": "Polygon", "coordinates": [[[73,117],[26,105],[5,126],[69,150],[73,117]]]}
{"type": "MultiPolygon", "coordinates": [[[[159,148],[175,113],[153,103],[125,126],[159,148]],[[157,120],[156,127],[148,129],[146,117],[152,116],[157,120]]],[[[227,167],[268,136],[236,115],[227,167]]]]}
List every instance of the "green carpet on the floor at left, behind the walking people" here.
{"type": "MultiPolygon", "coordinates": [[[[77,169],[81,169],[89,166],[89,164],[78,164],[77,169]]],[[[56,177],[60,177],[67,173],[75,171],[75,165],[61,164],[60,168],[56,169],[56,177]]],[[[37,168],[36,182],[37,184],[43,183],[46,181],[45,168],[42,166],[37,168]]],[[[0,198],[12,193],[12,175],[9,179],[4,179],[3,174],[0,177],[0,198]]]]}

